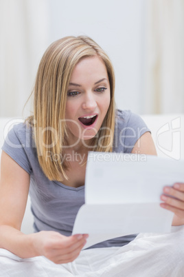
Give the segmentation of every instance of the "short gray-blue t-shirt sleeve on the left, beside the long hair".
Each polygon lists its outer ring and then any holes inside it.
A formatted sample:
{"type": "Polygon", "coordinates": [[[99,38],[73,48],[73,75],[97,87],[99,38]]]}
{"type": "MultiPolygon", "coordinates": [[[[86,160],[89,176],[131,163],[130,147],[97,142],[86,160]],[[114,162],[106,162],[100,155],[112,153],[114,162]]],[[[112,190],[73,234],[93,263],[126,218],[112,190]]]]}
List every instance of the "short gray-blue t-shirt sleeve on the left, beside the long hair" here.
{"type": "Polygon", "coordinates": [[[29,151],[27,151],[28,136],[25,123],[16,124],[8,132],[1,149],[18,163],[23,170],[31,174],[32,168],[29,161],[29,151]]]}

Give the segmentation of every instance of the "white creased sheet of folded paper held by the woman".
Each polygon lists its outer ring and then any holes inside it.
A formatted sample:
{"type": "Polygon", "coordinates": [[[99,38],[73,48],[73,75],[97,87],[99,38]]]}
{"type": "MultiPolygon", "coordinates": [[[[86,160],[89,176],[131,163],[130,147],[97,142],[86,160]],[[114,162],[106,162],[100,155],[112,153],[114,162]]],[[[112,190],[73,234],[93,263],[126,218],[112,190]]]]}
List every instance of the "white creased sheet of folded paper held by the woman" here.
{"type": "Polygon", "coordinates": [[[160,207],[165,185],[184,183],[184,161],[151,155],[89,152],[85,204],[73,234],[89,234],[84,249],[140,232],[170,232],[173,213],[160,207]]]}

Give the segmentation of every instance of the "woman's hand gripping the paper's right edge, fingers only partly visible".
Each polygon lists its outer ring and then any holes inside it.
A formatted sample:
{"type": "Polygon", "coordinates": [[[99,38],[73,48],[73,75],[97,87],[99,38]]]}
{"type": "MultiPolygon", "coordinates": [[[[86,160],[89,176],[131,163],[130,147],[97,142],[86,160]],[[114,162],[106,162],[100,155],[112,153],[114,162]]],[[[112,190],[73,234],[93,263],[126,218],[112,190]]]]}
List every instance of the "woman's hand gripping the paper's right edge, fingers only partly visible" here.
{"type": "Polygon", "coordinates": [[[172,225],[184,225],[184,183],[175,183],[173,187],[164,187],[161,200],[163,201],[160,204],[161,207],[174,212],[172,225]]]}

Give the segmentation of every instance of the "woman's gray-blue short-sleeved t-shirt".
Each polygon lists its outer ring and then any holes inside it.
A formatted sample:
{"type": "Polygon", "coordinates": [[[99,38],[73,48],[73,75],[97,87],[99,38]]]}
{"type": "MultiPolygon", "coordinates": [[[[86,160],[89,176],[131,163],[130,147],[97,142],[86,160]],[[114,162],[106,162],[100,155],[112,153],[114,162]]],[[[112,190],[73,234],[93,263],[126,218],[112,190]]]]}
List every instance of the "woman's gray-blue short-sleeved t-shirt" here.
{"type": "MultiPolygon", "coordinates": [[[[116,112],[113,152],[130,153],[137,139],[150,132],[140,116],[129,110],[116,112]]],[[[76,214],[84,204],[84,185],[69,187],[58,181],[49,181],[38,163],[32,128],[25,123],[14,125],[5,139],[2,150],[30,174],[30,197],[34,230],[49,230],[70,236],[76,214]]],[[[103,218],[102,218],[103,220],[103,218]]],[[[106,240],[92,247],[122,246],[135,234],[106,240]]]]}

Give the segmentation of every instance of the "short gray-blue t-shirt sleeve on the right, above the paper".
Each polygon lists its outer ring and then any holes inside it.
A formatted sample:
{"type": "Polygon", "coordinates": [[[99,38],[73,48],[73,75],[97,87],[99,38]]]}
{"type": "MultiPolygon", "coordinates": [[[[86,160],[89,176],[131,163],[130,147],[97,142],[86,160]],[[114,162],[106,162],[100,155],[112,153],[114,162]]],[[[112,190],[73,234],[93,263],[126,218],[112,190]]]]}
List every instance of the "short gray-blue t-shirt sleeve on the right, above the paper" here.
{"type": "Polygon", "coordinates": [[[137,140],[150,132],[141,116],[130,110],[117,110],[114,136],[114,152],[131,153],[137,140]]]}

